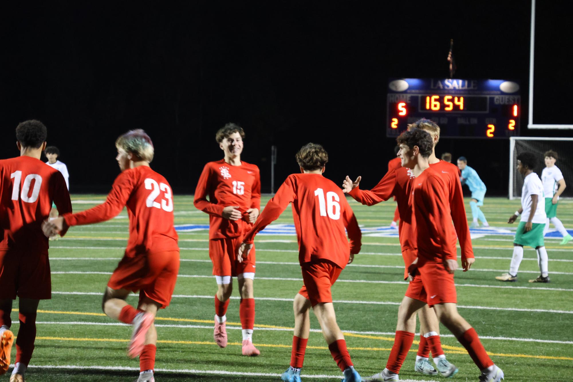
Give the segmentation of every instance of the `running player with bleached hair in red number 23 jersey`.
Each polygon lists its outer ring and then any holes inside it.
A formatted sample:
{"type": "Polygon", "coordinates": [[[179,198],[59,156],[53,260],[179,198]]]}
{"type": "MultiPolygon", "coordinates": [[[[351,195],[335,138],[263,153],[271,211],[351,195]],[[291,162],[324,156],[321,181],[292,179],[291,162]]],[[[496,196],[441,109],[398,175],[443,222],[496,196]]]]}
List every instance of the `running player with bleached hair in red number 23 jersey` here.
{"type": "Polygon", "coordinates": [[[134,325],[128,355],[139,356],[137,382],[154,382],[157,351],[154,319],[158,309],[169,305],[179,271],[172,191],[167,180],[149,166],[154,147],[143,130],[121,135],[115,145],[121,174],[113,182],[105,202],[46,222],[44,233],[49,236],[70,226],[103,222],[127,207],[127,248],[109,278],[102,308],[107,316],[134,325]],[[135,309],[125,299],[138,290],[138,309],[135,309]]]}

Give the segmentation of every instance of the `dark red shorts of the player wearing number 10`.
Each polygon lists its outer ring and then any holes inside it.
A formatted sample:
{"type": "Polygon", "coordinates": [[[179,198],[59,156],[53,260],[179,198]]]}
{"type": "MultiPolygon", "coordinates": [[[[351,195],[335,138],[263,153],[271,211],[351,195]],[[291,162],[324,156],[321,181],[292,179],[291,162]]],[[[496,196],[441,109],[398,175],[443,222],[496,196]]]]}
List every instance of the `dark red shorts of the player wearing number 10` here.
{"type": "Polygon", "coordinates": [[[34,300],[52,298],[48,253],[0,251],[0,298],[15,300],[16,296],[34,300]]]}

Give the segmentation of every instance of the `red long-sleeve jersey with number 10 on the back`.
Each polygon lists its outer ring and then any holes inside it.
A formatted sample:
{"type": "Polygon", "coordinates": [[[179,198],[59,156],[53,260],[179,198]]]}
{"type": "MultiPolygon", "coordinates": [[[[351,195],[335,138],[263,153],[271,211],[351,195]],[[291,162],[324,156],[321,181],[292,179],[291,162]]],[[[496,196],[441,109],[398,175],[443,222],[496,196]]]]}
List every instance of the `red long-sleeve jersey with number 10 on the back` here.
{"type": "Polygon", "coordinates": [[[41,226],[52,201],[60,214],[72,212],[64,176],[30,156],[0,160],[0,198],[0,251],[47,253],[48,238],[41,226]]]}

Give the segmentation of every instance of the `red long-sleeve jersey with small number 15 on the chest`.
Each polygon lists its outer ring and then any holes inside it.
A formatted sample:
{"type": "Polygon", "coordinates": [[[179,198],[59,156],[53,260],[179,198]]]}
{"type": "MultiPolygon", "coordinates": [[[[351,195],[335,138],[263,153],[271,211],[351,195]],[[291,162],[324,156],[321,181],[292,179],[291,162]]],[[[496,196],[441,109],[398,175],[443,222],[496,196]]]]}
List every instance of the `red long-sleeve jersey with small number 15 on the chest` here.
{"type": "Polygon", "coordinates": [[[244,234],[245,222],[249,223],[249,208],[261,209],[261,175],[254,164],[241,162],[231,166],[224,159],[209,162],[199,177],[195,208],[209,214],[209,239],[234,238],[244,234]],[[207,199],[209,196],[209,199],[207,199]],[[242,222],[222,217],[223,208],[239,206],[242,222]]]}

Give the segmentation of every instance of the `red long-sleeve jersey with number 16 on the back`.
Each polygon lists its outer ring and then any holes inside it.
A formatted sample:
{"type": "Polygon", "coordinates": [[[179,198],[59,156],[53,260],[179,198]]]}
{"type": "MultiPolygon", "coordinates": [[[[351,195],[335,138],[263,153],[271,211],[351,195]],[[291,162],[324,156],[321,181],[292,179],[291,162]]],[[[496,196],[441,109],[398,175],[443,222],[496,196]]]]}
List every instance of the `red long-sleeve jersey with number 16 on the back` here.
{"type": "Polygon", "coordinates": [[[289,203],[292,203],[301,265],[327,259],[344,268],[349,255],[359,253],[362,233],[354,212],[340,187],[320,174],[289,175],[243,241],[253,243],[254,236],[276,220],[289,203]]]}

